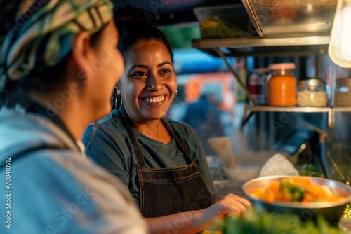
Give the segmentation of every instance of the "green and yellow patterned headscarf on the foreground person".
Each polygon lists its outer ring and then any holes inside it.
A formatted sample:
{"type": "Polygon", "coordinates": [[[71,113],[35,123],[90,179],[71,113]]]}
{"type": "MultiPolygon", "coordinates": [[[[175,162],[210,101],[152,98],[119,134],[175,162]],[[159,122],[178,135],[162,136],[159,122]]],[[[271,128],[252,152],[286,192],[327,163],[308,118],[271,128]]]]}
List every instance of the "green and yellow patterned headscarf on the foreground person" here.
{"type": "Polygon", "coordinates": [[[74,36],[83,30],[93,34],[113,17],[109,0],[27,2],[31,5],[20,9],[22,15],[0,49],[0,91],[8,79],[18,80],[37,69],[39,59],[55,66],[72,49],[74,36]]]}

